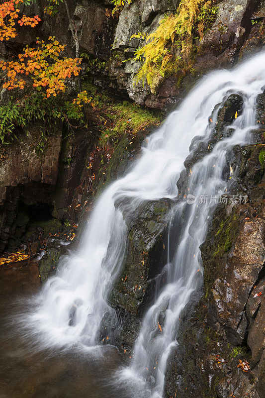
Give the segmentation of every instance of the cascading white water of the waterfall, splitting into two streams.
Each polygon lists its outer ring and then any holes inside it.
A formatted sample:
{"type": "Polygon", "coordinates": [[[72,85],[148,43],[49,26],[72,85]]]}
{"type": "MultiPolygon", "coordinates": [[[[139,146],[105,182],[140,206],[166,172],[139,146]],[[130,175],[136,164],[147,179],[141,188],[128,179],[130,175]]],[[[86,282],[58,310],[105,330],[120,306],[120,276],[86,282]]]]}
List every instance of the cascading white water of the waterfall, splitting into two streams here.
{"type": "MultiPolygon", "coordinates": [[[[133,168],[98,199],[79,250],[61,261],[56,276],[49,279],[36,298],[37,309],[27,320],[40,336],[42,346],[97,343],[100,321],[106,311],[112,311],[105,298],[126,252],[126,225],[115,203],[127,198],[128,211],[133,211],[146,199],[176,198],[176,183],[191,140],[195,136],[207,140],[216,122],[213,119],[209,126],[208,118],[215,105],[229,94],[239,93],[244,98],[244,106],[242,114],[233,122],[234,133],[216,143],[212,152],[192,167],[188,193],[194,195],[197,202],[187,205],[180,201],[176,205],[176,213],[188,206],[186,222],[174,248],[174,259],[167,266],[167,284],[145,314],[135,344],[128,373],[149,378],[152,397],[163,396],[167,360],[177,345],[178,318],[197,288],[202,273],[199,245],[206,232],[209,211],[216,205],[214,200],[207,205],[198,203],[198,198],[200,195],[214,197],[225,191],[222,172],[226,153],[233,145],[249,139],[248,133],[255,128],[255,99],[264,85],[265,54],[234,71],[212,73],[146,140],[133,168]],[[163,330],[157,333],[161,312],[165,315],[163,330]]],[[[217,111],[213,118],[216,116],[217,111]]],[[[139,397],[139,392],[137,394],[139,397]]]]}

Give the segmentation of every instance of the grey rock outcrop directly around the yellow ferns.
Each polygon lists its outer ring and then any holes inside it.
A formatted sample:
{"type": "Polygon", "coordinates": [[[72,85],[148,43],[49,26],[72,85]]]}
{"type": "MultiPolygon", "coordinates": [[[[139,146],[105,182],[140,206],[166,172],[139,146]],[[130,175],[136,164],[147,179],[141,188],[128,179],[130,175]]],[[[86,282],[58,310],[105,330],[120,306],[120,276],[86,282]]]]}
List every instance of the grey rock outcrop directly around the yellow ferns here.
{"type": "MultiPolygon", "coordinates": [[[[238,54],[251,31],[251,15],[257,9],[258,1],[223,0],[217,4],[216,20],[199,43],[194,43],[198,53],[192,74],[173,74],[167,77],[158,88],[156,95],[146,85],[133,86],[133,77],[139,64],[129,61],[124,70],[115,72],[119,84],[126,88],[131,99],[150,107],[163,108],[176,103],[190,90],[196,80],[206,71],[220,67],[230,67],[238,59],[238,54]]],[[[175,12],[178,1],[144,0],[140,4],[125,5],[121,11],[115,32],[114,48],[133,52],[143,41],[130,37],[136,32],[152,32],[166,13],[175,12]]],[[[253,34],[253,33],[252,33],[253,34]]],[[[260,40],[261,41],[261,40],[260,40]]],[[[259,47],[261,43],[257,43],[259,47]]],[[[255,47],[255,46],[254,46],[255,47]]],[[[256,48],[257,48],[256,47],[256,48]]],[[[256,50],[257,51],[257,50],[256,50]]],[[[129,58],[129,57],[128,57],[129,58]]]]}

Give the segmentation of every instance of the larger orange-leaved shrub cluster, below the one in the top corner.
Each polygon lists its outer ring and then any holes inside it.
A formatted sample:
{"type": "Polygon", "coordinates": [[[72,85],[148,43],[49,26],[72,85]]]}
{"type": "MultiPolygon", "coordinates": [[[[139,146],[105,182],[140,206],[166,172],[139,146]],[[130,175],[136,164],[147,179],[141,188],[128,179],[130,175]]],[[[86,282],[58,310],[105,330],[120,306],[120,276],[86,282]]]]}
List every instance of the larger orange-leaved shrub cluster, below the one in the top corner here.
{"type": "Polygon", "coordinates": [[[26,83],[24,76],[27,76],[32,81],[32,87],[37,91],[42,90],[46,98],[65,92],[66,80],[79,75],[81,60],[60,59],[59,54],[65,46],[59,44],[55,37],[50,36],[48,43],[42,40],[37,41],[37,44],[37,48],[27,45],[24,52],[18,55],[18,61],[0,61],[0,68],[7,71],[7,81],[3,87],[22,90],[26,83]]]}

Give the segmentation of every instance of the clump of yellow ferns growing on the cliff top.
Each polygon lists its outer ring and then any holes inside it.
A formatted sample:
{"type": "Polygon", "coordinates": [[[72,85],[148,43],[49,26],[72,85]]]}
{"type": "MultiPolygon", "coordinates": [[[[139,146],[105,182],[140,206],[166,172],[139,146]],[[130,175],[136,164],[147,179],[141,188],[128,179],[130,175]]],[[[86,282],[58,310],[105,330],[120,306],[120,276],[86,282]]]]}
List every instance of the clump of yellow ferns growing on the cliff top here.
{"type": "Polygon", "coordinates": [[[144,58],[134,76],[134,85],[146,78],[151,91],[155,92],[161,77],[178,70],[189,70],[195,52],[194,38],[203,37],[204,31],[214,21],[215,13],[212,1],[182,0],[177,13],[166,15],[154,32],[133,34],[131,39],[145,40],[145,44],[134,53],[135,61],[144,58]]]}

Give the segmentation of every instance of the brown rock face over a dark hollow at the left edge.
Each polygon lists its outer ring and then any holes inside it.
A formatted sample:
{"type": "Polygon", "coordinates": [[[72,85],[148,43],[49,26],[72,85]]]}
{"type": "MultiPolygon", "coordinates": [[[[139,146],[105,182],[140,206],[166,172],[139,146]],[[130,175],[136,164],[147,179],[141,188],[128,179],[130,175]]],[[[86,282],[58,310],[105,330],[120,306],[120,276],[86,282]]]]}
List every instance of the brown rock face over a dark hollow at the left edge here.
{"type": "MultiPolygon", "coordinates": [[[[19,146],[13,142],[8,153],[1,159],[0,168],[0,251],[11,239],[13,244],[25,232],[28,220],[22,217],[20,201],[26,205],[51,204],[59,168],[61,151],[61,128],[48,137],[47,146],[40,154],[36,147],[40,140],[41,126],[29,128],[19,146]]],[[[17,242],[17,243],[18,243],[17,242]]],[[[10,242],[11,243],[11,242],[10,242]]]]}

